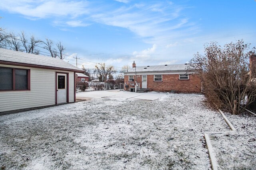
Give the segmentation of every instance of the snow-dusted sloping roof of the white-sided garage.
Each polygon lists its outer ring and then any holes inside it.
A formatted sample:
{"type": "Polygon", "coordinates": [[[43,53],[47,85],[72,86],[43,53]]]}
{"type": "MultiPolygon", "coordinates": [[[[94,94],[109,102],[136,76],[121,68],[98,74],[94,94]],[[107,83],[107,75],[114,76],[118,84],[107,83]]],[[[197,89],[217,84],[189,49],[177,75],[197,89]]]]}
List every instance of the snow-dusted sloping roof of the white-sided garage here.
{"type": "Polygon", "coordinates": [[[84,72],[84,70],[61,59],[2,48],[0,48],[0,64],[84,72]]]}

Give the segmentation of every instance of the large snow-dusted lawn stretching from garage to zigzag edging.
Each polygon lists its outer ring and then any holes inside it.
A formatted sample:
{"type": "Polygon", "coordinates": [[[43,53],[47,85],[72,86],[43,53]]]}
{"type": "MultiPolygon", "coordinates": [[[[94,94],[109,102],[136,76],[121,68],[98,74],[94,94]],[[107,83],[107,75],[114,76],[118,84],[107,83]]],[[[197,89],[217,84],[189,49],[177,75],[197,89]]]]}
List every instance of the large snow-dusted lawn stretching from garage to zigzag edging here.
{"type": "MultiPolygon", "coordinates": [[[[203,100],[202,95],[188,94],[164,94],[153,101],[110,96],[4,115],[0,117],[0,166],[210,169],[203,134],[229,127],[219,113],[203,106],[203,100]]],[[[255,147],[253,139],[252,143],[255,147]]]]}

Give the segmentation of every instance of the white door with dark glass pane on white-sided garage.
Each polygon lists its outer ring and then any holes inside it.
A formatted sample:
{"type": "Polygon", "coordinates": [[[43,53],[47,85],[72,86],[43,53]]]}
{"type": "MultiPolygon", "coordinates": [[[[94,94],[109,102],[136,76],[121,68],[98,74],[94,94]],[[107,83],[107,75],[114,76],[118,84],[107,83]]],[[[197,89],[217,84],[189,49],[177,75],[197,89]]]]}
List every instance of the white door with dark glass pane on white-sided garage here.
{"type": "Polygon", "coordinates": [[[67,102],[67,74],[57,73],[57,104],[67,102]]]}

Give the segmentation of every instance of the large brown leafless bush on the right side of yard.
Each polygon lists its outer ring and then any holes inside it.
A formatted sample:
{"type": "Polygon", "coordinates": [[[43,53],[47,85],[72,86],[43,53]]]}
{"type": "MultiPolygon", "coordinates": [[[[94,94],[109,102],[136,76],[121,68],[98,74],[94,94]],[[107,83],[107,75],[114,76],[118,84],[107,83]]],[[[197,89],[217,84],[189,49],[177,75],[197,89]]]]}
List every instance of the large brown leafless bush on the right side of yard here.
{"type": "Polygon", "coordinates": [[[256,74],[248,74],[248,59],[255,48],[239,40],[224,47],[212,42],[204,49],[205,55],[194,55],[190,69],[201,78],[207,102],[232,114],[241,113],[256,98],[256,83],[252,81],[256,74]]]}

